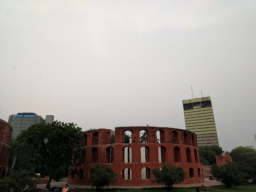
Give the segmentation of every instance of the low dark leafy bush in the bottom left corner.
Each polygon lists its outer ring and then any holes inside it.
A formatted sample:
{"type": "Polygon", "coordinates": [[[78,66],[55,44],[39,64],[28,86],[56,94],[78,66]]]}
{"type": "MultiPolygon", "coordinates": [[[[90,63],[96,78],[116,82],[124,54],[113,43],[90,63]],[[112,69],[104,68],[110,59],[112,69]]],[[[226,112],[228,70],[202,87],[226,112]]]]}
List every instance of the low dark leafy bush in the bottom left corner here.
{"type": "Polygon", "coordinates": [[[35,176],[27,170],[15,170],[8,177],[0,179],[1,192],[21,192],[24,189],[36,189],[32,177],[35,176]]]}

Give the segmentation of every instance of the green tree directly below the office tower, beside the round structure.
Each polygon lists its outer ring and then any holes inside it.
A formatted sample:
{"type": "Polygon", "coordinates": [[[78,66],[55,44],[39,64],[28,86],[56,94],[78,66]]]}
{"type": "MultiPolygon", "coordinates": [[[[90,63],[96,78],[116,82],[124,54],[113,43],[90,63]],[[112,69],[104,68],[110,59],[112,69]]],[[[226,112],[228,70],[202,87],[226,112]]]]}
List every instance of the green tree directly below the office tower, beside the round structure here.
{"type": "Polygon", "coordinates": [[[203,165],[216,164],[215,157],[221,156],[222,148],[217,145],[199,147],[200,160],[203,165]]]}

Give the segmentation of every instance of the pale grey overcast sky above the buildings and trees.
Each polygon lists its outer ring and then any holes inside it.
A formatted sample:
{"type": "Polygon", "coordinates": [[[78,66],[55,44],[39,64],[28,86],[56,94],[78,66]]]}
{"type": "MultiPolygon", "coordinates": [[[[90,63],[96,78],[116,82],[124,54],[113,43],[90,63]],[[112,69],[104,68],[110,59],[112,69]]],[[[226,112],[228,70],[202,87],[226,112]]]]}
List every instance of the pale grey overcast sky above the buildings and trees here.
{"type": "Polygon", "coordinates": [[[0,118],[185,129],[211,96],[220,146],[255,146],[256,1],[0,1],[0,118]]]}

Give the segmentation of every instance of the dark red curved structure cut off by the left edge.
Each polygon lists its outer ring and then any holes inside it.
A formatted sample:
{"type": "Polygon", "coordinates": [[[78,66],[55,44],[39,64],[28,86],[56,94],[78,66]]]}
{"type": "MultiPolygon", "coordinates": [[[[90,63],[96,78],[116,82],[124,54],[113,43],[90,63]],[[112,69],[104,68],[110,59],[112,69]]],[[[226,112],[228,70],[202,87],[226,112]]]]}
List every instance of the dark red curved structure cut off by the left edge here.
{"type": "Polygon", "coordinates": [[[11,125],[0,119],[0,179],[3,179],[8,172],[11,136],[11,125]]]}

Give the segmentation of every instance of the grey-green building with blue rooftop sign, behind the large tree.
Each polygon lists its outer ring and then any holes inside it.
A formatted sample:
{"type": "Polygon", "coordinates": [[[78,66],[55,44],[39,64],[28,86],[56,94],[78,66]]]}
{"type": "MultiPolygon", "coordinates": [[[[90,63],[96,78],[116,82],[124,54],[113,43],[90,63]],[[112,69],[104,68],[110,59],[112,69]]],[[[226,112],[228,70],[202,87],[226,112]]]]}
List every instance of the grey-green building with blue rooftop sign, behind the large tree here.
{"type": "Polygon", "coordinates": [[[36,115],[36,113],[18,113],[17,115],[10,115],[8,123],[12,125],[12,136],[16,138],[22,130],[28,129],[34,124],[51,124],[53,122],[53,115],[46,115],[46,120],[42,116],[36,115]]]}

